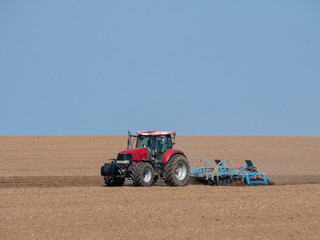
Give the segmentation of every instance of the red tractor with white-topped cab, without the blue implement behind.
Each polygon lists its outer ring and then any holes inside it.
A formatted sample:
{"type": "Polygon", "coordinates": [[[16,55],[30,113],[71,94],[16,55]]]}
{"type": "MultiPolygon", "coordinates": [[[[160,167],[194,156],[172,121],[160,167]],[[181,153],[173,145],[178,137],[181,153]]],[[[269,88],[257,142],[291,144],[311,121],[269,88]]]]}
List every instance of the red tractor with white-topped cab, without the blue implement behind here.
{"type": "Polygon", "coordinates": [[[129,132],[127,150],[101,167],[105,184],[122,186],[129,178],[135,186],[151,186],[161,178],[169,186],[186,185],[189,162],[182,151],[172,149],[175,135],[164,131],[140,131],[137,135],[129,132]]]}

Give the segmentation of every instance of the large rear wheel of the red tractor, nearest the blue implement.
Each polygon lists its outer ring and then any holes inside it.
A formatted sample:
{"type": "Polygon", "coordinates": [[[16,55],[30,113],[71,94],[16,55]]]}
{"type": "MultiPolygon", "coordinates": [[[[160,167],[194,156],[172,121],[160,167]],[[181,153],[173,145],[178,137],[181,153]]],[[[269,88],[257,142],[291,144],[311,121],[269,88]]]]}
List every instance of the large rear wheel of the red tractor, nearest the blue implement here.
{"type": "Polygon", "coordinates": [[[166,164],[165,183],[168,186],[185,186],[190,178],[190,166],[182,154],[174,155],[166,164]]]}

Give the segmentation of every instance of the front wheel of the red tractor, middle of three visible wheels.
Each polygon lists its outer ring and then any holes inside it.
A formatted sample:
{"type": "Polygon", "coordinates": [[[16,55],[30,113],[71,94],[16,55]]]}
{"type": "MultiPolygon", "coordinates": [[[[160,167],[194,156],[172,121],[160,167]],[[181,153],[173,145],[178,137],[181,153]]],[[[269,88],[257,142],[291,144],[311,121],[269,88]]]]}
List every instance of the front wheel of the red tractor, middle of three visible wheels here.
{"type": "Polygon", "coordinates": [[[137,163],[132,170],[132,181],[135,186],[149,187],[154,182],[154,169],[150,163],[137,163]]]}

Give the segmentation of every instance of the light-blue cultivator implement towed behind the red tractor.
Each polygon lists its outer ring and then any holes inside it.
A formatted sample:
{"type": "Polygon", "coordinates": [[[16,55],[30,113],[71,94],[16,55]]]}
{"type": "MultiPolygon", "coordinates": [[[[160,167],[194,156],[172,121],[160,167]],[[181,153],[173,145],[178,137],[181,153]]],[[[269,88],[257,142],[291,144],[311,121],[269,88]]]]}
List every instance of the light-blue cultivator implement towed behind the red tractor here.
{"type": "Polygon", "coordinates": [[[230,159],[215,160],[215,163],[208,159],[200,159],[197,167],[190,169],[190,176],[210,185],[226,185],[233,182],[247,185],[272,184],[264,173],[258,173],[251,160],[246,160],[246,166],[239,163],[234,165],[230,159]]]}

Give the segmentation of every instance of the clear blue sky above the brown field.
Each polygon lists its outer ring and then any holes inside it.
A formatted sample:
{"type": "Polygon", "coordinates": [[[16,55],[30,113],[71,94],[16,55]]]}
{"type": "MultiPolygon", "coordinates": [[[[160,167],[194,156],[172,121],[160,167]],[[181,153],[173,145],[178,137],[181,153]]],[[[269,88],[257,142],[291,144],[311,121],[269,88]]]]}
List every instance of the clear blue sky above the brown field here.
{"type": "Polygon", "coordinates": [[[0,135],[320,136],[320,1],[0,1],[0,135]]]}

